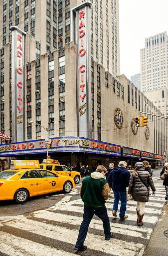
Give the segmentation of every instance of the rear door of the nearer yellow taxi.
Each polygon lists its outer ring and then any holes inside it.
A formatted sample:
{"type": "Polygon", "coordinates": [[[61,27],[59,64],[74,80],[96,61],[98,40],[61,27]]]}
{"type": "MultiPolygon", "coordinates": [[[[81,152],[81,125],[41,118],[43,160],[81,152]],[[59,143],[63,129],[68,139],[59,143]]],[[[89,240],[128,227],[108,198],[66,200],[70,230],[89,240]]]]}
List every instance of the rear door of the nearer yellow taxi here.
{"type": "Polygon", "coordinates": [[[36,170],[26,171],[20,178],[21,183],[32,195],[44,193],[44,180],[36,170]]]}

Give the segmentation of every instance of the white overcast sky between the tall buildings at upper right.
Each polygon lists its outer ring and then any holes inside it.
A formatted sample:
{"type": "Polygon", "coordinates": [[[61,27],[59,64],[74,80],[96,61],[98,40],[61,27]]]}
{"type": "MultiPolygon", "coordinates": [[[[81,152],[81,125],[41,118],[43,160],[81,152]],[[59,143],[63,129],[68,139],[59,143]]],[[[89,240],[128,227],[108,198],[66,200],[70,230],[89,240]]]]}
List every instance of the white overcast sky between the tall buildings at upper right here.
{"type": "Polygon", "coordinates": [[[120,75],[141,73],[140,49],[145,39],[168,34],[168,0],[119,0],[120,75]]]}

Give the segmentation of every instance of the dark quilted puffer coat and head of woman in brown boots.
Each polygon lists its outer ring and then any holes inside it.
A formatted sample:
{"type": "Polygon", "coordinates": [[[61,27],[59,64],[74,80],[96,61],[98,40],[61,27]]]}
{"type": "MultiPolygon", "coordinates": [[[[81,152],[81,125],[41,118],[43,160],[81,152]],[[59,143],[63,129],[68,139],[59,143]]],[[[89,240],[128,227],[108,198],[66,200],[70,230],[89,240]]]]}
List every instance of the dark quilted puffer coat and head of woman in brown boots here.
{"type": "MultiPolygon", "coordinates": [[[[135,164],[135,170],[144,181],[144,183],[148,187],[148,183],[155,192],[154,182],[152,180],[151,174],[145,170],[145,165],[142,162],[138,162],[135,164]]],[[[135,172],[131,173],[130,184],[128,188],[128,194],[133,195],[134,201],[138,202],[148,202],[149,200],[149,190],[140,180],[140,178],[136,175],[135,172]]]]}

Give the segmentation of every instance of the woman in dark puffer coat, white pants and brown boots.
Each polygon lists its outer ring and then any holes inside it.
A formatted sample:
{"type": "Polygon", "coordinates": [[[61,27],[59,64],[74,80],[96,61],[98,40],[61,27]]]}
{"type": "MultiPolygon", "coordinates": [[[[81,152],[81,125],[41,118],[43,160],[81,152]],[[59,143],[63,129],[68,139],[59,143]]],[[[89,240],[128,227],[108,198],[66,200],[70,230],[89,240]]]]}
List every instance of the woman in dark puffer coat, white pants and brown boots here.
{"type": "Polygon", "coordinates": [[[144,222],[142,221],[145,212],[145,204],[149,200],[149,189],[148,184],[150,184],[155,195],[155,186],[149,171],[146,171],[145,165],[142,162],[137,162],[135,164],[135,172],[131,173],[130,184],[128,189],[128,197],[131,198],[131,193],[133,195],[134,201],[137,201],[137,224],[142,226],[144,222]]]}

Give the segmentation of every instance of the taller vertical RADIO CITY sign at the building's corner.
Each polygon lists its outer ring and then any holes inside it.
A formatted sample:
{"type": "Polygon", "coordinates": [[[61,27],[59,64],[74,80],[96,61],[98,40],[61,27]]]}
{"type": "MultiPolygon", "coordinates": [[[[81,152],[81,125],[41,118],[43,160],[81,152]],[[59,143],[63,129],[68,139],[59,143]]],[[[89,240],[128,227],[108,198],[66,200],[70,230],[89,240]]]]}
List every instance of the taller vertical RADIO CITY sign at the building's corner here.
{"type": "Polygon", "coordinates": [[[78,135],[90,137],[89,131],[89,102],[91,102],[91,7],[85,2],[71,10],[72,34],[76,42],[76,69],[77,69],[77,123],[78,135]]]}

